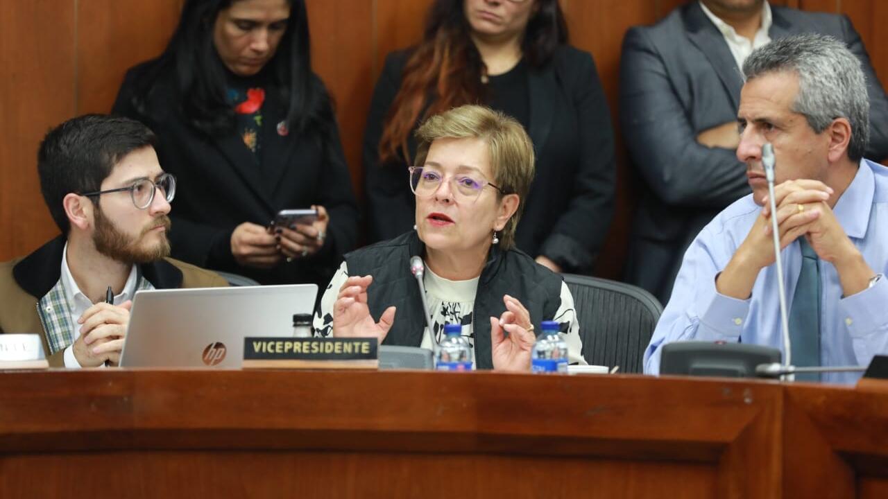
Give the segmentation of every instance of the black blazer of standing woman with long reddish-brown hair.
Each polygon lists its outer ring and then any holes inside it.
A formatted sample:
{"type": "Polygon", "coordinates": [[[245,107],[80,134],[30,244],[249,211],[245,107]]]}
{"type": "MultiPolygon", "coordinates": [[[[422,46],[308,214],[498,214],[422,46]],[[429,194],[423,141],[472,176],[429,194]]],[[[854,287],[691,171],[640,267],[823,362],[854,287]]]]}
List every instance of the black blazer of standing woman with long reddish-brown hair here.
{"type": "MultiPolygon", "coordinates": [[[[408,51],[385,59],[364,133],[364,173],[370,242],[414,226],[416,201],[405,162],[379,164],[383,122],[400,88],[408,51]]],[[[562,46],[544,67],[529,68],[530,130],[536,173],[516,244],[545,255],[565,272],[588,270],[614,212],[614,132],[591,55],[562,46]]],[[[417,123],[418,124],[418,123],[417,123]]],[[[416,141],[409,141],[415,157],[416,141]]]]}

